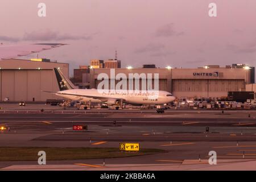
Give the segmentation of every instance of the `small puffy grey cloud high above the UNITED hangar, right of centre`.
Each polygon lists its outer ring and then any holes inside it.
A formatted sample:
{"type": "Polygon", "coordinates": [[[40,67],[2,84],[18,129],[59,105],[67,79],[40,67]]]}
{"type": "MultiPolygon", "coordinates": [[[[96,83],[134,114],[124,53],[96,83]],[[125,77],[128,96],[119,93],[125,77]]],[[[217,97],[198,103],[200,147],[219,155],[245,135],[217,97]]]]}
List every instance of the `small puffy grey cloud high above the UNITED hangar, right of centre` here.
{"type": "Polygon", "coordinates": [[[181,36],[184,32],[177,32],[174,30],[174,23],[166,24],[155,32],[156,37],[170,37],[170,36],[181,36]]]}

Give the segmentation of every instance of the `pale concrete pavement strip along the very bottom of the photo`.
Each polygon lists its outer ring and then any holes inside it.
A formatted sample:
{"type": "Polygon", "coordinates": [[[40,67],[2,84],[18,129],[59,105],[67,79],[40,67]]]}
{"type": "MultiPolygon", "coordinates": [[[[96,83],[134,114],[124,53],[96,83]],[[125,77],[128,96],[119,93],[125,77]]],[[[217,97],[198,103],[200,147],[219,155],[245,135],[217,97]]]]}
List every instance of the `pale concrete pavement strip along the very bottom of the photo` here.
{"type": "MultiPolygon", "coordinates": [[[[177,171],[177,169],[185,171],[250,171],[255,170],[255,160],[228,160],[221,159],[216,165],[209,165],[208,160],[184,160],[173,161],[171,164],[49,164],[46,166],[39,165],[13,165],[2,168],[1,171],[26,170],[26,171],[177,171]],[[176,162],[176,163],[175,163],[176,162]]],[[[125,176],[125,175],[123,175],[125,176]]],[[[123,177],[121,176],[121,178],[123,177]]]]}

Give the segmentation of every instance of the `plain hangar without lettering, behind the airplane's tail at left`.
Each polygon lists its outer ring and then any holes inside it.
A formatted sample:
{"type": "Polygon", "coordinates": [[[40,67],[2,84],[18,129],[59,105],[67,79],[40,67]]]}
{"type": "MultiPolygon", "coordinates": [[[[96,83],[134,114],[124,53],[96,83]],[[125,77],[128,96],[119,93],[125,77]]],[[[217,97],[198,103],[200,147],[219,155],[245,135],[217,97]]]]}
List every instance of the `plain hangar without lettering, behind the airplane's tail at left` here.
{"type": "Polygon", "coordinates": [[[9,97],[10,101],[46,101],[57,99],[56,76],[53,68],[60,68],[69,76],[69,64],[49,61],[8,59],[0,61],[0,100],[9,97]]]}

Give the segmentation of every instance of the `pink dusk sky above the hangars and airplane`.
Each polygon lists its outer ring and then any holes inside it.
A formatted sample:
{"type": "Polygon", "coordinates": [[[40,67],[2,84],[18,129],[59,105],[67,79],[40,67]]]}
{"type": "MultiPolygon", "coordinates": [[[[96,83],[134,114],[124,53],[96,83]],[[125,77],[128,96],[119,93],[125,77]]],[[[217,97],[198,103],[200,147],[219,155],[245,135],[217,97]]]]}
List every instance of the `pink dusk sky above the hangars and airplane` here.
{"type": "Polygon", "coordinates": [[[68,44],[39,57],[69,63],[71,71],[114,59],[115,50],[122,67],[256,65],[255,0],[1,0],[0,22],[3,44],[68,44]],[[46,17],[38,16],[39,3],[46,17]]]}

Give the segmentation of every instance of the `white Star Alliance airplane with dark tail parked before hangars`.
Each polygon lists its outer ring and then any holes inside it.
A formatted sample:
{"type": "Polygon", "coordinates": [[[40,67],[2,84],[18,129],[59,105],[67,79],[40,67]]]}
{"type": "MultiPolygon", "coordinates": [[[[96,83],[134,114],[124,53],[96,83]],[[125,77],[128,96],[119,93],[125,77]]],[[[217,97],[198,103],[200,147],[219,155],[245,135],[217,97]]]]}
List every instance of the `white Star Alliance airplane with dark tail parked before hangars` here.
{"type": "Polygon", "coordinates": [[[75,89],[71,81],[60,71],[60,68],[54,68],[54,71],[60,91],[44,92],[53,93],[71,101],[100,103],[108,106],[120,104],[122,108],[123,103],[131,105],[163,105],[175,100],[175,97],[166,91],[129,93],[126,90],[75,89]]]}

